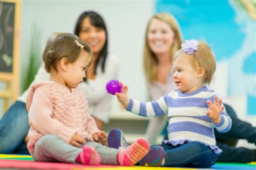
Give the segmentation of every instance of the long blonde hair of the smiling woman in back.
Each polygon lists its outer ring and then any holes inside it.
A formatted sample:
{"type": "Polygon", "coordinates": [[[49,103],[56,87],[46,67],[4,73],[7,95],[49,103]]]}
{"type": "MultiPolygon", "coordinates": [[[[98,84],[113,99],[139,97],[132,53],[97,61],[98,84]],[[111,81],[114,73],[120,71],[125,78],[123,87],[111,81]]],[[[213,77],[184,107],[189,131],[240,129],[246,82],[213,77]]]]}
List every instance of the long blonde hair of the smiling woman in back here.
{"type": "Polygon", "coordinates": [[[170,13],[165,13],[165,12],[157,13],[156,15],[151,17],[151,19],[149,20],[149,23],[147,24],[145,42],[144,42],[144,54],[143,54],[144,71],[146,74],[146,80],[149,83],[157,79],[157,67],[158,67],[156,55],[150,50],[150,47],[147,44],[147,33],[149,32],[149,26],[153,19],[158,19],[165,22],[171,27],[172,31],[174,32],[173,45],[170,48],[170,51],[171,51],[170,61],[172,61],[172,55],[178,49],[181,48],[181,43],[183,42],[179,24],[177,20],[172,15],[170,15],[170,13]]]}

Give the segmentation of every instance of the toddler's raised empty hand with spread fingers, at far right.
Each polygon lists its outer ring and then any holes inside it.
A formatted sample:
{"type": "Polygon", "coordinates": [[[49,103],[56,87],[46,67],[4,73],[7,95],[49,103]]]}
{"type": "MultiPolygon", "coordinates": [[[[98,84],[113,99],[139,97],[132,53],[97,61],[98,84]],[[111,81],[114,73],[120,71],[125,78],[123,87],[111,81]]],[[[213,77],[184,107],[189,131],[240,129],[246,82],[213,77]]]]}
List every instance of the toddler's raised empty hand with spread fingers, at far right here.
{"type": "Polygon", "coordinates": [[[207,101],[208,104],[208,111],[207,111],[207,116],[212,119],[214,123],[220,123],[221,117],[220,113],[221,111],[224,110],[224,106],[222,105],[222,101],[219,100],[218,102],[218,97],[214,97],[214,103],[212,104],[211,101],[207,101]]]}

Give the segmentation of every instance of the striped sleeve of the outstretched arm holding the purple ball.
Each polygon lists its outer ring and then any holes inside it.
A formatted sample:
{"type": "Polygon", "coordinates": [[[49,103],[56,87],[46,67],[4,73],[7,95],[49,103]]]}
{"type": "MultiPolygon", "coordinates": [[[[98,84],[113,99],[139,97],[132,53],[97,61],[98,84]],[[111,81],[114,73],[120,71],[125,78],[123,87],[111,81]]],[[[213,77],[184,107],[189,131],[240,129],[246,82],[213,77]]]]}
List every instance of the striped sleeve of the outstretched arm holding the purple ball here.
{"type": "Polygon", "coordinates": [[[167,114],[168,107],[165,96],[151,102],[139,102],[130,98],[127,111],[143,117],[154,117],[167,114]]]}

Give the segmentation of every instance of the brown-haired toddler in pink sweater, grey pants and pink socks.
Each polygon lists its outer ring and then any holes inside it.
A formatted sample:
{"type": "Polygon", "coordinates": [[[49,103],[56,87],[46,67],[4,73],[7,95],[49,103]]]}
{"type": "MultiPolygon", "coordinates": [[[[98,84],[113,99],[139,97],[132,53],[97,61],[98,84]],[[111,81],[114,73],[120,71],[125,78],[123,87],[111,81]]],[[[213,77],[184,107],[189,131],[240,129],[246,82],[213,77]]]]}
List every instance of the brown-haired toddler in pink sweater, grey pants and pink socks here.
{"type": "Polygon", "coordinates": [[[28,150],[36,161],[86,165],[132,166],[149,152],[145,139],[126,149],[104,146],[106,133],[98,130],[78,84],[93,58],[86,42],[69,33],[53,33],[43,52],[50,80],[31,87],[28,150]]]}

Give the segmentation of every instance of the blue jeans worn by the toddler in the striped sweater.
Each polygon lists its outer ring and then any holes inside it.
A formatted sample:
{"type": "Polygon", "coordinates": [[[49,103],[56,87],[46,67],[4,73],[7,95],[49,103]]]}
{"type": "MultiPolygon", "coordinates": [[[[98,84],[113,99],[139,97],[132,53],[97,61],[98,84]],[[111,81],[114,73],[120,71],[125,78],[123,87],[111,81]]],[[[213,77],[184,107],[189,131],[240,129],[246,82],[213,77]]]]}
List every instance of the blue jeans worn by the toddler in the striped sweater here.
{"type": "Polygon", "coordinates": [[[178,146],[162,143],[160,146],[165,150],[165,167],[210,168],[218,158],[209,147],[197,141],[178,146]]]}

